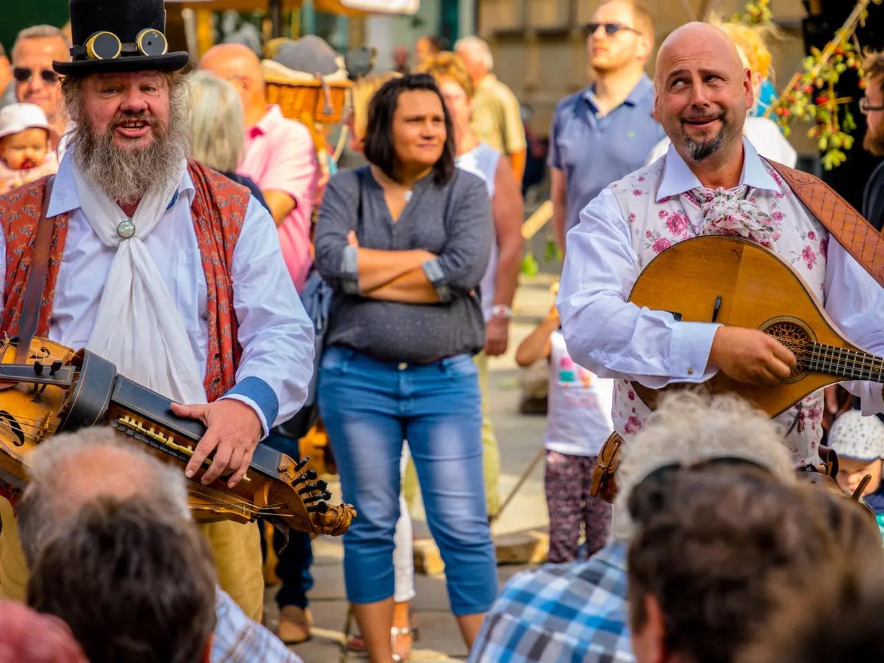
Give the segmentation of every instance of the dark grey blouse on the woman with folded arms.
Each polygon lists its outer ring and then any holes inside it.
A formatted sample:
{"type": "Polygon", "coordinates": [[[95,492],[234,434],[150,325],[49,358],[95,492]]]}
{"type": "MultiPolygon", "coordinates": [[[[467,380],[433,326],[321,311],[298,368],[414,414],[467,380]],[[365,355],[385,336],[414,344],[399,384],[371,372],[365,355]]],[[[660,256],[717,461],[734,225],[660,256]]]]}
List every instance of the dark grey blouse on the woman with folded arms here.
{"type": "Polygon", "coordinates": [[[433,175],[415,183],[399,219],[392,221],[384,189],[369,166],[340,171],[329,181],[316,223],[316,269],[334,288],[325,345],[343,345],[392,362],[420,362],[476,354],[484,346],[479,281],[492,243],[488,191],[482,179],[455,169],[442,187],[433,175]],[[356,250],[423,248],[438,257],[423,270],[436,304],[362,297],[356,250]]]}

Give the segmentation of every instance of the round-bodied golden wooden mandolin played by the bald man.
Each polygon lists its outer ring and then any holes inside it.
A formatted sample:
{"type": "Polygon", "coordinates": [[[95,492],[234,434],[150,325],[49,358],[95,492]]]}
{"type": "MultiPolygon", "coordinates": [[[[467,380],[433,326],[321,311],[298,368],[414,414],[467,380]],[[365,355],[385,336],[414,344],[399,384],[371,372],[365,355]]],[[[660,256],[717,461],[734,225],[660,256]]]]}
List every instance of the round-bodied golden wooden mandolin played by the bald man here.
{"type": "MultiPolygon", "coordinates": [[[[758,329],[788,347],[797,365],[779,385],[747,385],[720,372],[704,383],[713,393],[742,396],[770,416],[836,382],[884,382],[884,357],[850,343],[792,266],[748,240],[706,235],[674,244],[639,274],[629,301],[668,311],[676,320],[758,329]]],[[[697,386],[632,385],[652,409],[661,392],[697,386]]]]}

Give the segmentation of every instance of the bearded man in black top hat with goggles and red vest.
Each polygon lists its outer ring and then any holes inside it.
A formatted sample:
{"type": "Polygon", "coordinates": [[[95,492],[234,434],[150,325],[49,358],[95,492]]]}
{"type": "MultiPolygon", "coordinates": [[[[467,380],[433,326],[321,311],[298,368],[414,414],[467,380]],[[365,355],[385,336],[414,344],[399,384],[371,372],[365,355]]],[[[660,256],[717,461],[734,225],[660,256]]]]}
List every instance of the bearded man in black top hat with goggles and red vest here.
{"type": "MultiPolygon", "coordinates": [[[[306,397],[312,325],[267,211],[187,160],[187,53],[166,52],[162,0],[71,0],[70,11],[72,61],[53,64],[70,147],[53,184],[0,197],[0,331],[19,333],[45,203],[54,225],[37,335],[88,347],[177,401],[176,414],[208,429],[187,476],[214,452],[202,483],[230,475],[237,484],[258,441],[306,397]]],[[[0,591],[14,596],[24,562],[0,501],[0,591]]],[[[260,619],[255,524],[205,527],[221,586],[260,619]]]]}

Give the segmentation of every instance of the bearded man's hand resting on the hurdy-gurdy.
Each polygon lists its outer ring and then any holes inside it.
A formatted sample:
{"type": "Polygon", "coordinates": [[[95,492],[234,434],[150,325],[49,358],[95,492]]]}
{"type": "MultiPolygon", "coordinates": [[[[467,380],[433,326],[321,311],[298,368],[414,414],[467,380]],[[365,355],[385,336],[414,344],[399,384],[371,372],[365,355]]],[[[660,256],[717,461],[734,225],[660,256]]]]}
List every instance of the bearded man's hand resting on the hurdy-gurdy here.
{"type": "Polygon", "coordinates": [[[202,475],[202,484],[209,485],[218,476],[229,472],[233,474],[227,485],[232,488],[239,484],[263,434],[261,420],[255,410],[240,400],[223,399],[208,405],[172,403],[171,411],[179,416],[199,419],[206,426],[206,434],[194,449],[185,475],[194,476],[202,467],[202,462],[215,450],[210,468],[202,475]]]}

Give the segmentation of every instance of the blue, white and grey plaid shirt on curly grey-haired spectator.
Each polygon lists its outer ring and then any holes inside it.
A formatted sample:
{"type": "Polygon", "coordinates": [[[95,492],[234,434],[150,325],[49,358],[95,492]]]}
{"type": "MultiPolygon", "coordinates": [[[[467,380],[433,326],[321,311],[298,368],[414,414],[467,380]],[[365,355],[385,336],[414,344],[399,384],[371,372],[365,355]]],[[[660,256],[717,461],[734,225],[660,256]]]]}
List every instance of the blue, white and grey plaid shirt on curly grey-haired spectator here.
{"type": "Polygon", "coordinates": [[[514,575],[485,618],[470,663],[634,663],[626,547],[514,575]]]}

